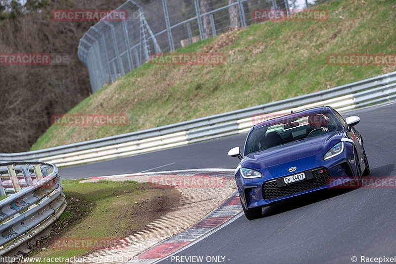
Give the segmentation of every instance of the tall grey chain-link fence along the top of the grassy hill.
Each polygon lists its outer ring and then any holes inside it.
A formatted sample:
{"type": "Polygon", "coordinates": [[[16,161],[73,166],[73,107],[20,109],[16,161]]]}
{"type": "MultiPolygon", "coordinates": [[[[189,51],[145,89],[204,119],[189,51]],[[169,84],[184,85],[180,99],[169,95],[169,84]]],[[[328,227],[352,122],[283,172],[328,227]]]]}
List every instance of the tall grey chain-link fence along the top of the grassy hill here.
{"type": "Polygon", "coordinates": [[[78,56],[88,67],[92,91],[141,66],[153,53],[167,53],[199,40],[263,21],[255,10],[308,8],[326,0],[128,0],[123,21],[100,21],[80,40],[78,56]]]}

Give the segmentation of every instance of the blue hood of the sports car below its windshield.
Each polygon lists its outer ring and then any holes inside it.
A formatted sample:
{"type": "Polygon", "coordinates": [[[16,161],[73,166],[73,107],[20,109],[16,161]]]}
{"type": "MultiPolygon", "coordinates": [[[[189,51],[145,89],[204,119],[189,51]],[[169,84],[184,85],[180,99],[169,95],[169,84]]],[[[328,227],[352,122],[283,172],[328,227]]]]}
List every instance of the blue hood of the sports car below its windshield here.
{"type": "MultiPolygon", "coordinates": [[[[252,168],[264,172],[267,169],[270,174],[274,174],[280,167],[289,169],[293,165],[292,162],[299,160],[299,164],[303,166],[297,167],[297,171],[312,168],[312,163],[322,160],[323,155],[335,144],[341,141],[342,131],[330,132],[312,138],[302,139],[296,142],[270,148],[264,151],[247,155],[241,160],[241,166],[252,168]],[[301,162],[304,159],[304,162],[301,162]],[[320,159],[320,160],[319,160],[320,159]],[[291,165],[291,166],[289,166],[291,165]],[[289,167],[288,167],[289,166],[289,167]]],[[[284,171],[284,168],[282,168],[284,171]]],[[[286,170],[288,171],[288,170],[286,170]]],[[[287,172],[286,174],[290,174],[287,172]]]]}

